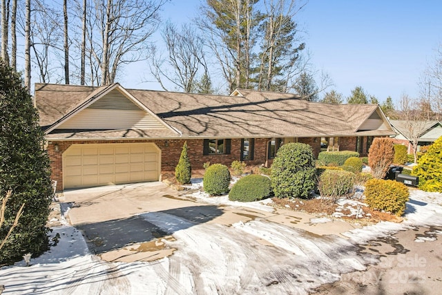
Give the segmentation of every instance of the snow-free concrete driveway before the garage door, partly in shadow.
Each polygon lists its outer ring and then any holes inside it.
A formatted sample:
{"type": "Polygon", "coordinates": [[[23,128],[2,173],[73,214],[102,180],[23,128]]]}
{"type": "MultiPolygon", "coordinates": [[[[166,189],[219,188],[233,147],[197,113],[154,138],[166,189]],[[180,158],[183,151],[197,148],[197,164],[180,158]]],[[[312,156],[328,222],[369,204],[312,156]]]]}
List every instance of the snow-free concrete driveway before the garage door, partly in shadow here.
{"type": "Polygon", "coordinates": [[[166,249],[161,240],[173,240],[175,231],[202,223],[230,226],[262,218],[315,235],[354,228],[337,220],[312,225],[310,219],[316,216],[283,209],[205,204],[162,182],[65,191],[60,201],[62,211],[68,207],[68,220],[82,231],[90,251],[110,261],[146,261],[170,255],[175,249],[166,249]],[[161,227],[156,222],[159,218],[161,227]]]}

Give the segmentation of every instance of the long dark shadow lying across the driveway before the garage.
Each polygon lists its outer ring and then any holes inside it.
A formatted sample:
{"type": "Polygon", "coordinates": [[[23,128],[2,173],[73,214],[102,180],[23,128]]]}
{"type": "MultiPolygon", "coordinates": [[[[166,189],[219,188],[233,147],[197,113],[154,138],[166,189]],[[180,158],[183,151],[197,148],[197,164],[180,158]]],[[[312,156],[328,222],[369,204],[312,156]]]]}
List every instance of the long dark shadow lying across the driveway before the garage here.
{"type": "Polygon", "coordinates": [[[175,231],[213,220],[222,213],[218,206],[191,206],[78,225],[77,229],[83,232],[90,251],[102,254],[134,243],[169,236],[175,231]]]}

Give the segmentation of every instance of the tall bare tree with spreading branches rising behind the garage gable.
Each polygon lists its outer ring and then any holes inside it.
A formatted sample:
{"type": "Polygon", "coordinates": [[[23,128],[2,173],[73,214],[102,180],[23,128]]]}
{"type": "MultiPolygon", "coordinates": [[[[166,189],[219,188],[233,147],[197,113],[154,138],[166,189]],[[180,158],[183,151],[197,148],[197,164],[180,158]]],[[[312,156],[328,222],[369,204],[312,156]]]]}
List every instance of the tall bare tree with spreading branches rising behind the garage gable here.
{"type": "Polygon", "coordinates": [[[157,29],[164,3],[166,0],[94,1],[88,37],[90,53],[101,71],[100,84],[113,83],[122,65],[146,57],[147,40],[157,29]]]}

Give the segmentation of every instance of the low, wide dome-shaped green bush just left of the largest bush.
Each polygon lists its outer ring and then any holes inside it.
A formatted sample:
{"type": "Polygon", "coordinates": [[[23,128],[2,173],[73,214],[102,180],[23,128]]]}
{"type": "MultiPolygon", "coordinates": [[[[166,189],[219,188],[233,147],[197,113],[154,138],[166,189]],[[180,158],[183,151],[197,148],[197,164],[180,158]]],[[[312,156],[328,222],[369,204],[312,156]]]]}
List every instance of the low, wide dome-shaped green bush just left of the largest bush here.
{"type": "Polygon", "coordinates": [[[267,198],[271,194],[270,178],[264,175],[251,174],[233,184],[229,192],[229,200],[253,202],[267,198]]]}

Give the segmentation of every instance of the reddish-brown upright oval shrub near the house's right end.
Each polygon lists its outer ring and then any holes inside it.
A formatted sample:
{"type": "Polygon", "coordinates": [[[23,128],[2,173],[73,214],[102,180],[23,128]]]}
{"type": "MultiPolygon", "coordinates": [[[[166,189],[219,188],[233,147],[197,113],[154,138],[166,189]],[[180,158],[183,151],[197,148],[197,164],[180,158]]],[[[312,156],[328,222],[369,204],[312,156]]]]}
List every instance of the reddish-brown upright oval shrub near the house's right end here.
{"type": "Polygon", "coordinates": [[[368,151],[368,165],[374,178],[383,179],[394,160],[393,140],[375,137],[368,151]]]}

